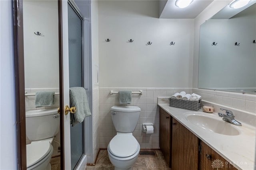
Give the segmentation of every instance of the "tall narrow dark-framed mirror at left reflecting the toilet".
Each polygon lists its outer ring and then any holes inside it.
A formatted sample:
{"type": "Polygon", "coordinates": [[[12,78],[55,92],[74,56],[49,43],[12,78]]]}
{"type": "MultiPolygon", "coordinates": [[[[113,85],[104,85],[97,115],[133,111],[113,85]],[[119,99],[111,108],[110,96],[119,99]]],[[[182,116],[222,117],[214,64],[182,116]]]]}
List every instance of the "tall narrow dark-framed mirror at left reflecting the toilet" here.
{"type": "Polygon", "coordinates": [[[27,169],[60,169],[58,1],[24,0],[27,169]]]}

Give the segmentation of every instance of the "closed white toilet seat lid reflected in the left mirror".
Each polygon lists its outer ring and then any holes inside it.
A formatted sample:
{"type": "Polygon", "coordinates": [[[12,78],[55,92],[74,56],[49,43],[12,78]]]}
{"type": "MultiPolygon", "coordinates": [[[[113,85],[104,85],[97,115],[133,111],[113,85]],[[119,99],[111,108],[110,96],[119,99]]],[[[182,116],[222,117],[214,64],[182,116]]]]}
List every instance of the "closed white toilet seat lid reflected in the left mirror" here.
{"type": "Polygon", "coordinates": [[[50,142],[42,141],[26,145],[27,169],[33,169],[51,158],[53,147],[50,142]]]}

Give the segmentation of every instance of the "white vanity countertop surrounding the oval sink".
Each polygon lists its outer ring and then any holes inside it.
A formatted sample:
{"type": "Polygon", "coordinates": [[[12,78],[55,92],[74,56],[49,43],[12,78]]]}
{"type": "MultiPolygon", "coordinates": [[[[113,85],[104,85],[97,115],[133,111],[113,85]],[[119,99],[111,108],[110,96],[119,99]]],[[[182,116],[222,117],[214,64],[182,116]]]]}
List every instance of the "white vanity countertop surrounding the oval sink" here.
{"type": "MultiPolygon", "coordinates": [[[[202,129],[201,127],[188,122],[183,115],[188,112],[192,112],[190,110],[170,107],[169,104],[158,103],[158,106],[164,109],[177,121],[182,123],[182,125],[194,133],[194,135],[215,150],[238,170],[254,170],[256,149],[256,128],[254,126],[248,125],[244,122],[241,122],[242,126],[231,124],[240,131],[240,135],[222,135],[202,129]]],[[[202,109],[197,112],[212,117],[218,117],[218,113],[215,112],[205,113],[202,109]]],[[[218,118],[222,119],[221,117],[218,118]]]]}

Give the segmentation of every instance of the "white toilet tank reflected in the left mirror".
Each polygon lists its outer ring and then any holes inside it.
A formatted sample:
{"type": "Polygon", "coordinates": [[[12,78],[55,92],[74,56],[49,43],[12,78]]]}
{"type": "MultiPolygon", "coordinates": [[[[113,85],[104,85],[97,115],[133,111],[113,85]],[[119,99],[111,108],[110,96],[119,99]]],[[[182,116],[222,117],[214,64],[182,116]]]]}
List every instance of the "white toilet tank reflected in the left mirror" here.
{"type": "Polygon", "coordinates": [[[30,141],[54,137],[59,129],[57,108],[26,111],[26,135],[30,141]]]}

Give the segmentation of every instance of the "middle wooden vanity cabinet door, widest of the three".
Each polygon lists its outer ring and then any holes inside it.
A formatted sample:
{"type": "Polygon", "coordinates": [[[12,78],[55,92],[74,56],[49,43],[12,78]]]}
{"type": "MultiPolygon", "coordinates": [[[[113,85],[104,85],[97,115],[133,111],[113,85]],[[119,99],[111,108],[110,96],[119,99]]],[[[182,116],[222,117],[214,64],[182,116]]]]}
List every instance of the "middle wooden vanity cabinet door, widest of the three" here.
{"type": "Polygon", "coordinates": [[[196,135],[172,118],[172,170],[198,170],[196,135]]]}

